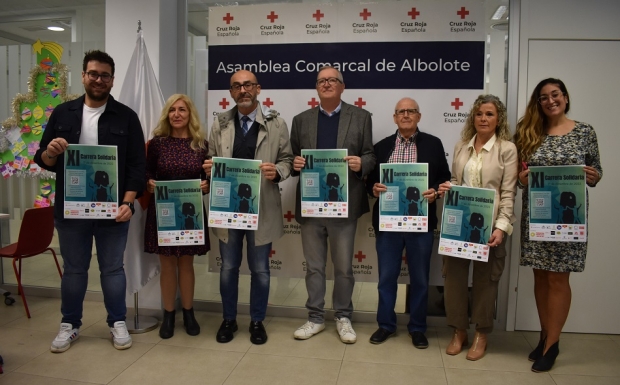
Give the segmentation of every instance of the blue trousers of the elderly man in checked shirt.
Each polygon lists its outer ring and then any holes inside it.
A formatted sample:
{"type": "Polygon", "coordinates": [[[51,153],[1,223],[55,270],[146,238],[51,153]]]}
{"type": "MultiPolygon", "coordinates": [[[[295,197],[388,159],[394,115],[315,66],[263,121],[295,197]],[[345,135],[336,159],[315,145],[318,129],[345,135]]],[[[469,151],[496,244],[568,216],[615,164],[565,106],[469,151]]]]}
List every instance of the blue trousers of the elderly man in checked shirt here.
{"type": "Polygon", "coordinates": [[[396,331],[396,291],[403,250],[409,267],[409,332],[426,332],[428,308],[428,275],[433,247],[433,232],[377,232],[379,260],[379,307],[377,323],[391,332],[396,331]]]}

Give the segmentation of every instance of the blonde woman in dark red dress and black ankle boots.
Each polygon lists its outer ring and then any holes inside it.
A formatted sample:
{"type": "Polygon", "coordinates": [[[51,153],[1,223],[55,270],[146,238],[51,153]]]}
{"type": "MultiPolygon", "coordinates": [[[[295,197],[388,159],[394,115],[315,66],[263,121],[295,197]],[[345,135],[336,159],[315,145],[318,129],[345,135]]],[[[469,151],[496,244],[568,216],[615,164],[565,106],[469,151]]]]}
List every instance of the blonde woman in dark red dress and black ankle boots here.
{"type": "MultiPolygon", "coordinates": [[[[158,180],[200,178],[202,193],[207,194],[209,184],[202,170],[207,151],[207,141],[194,103],[187,95],[172,95],[166,101],[159,123],[153,131],[153,139],[149,142],[146,162],[147,190],[154,192],[158,180]]],[[[185,331],[195,336],[200,333],[200,326],[193,310],[194,255],[205,255],[209,251],[207,222],[204,221],[203,245],[159,246],[155,199],[151,198],[146,218],[144,248],[148,253],[159,254],[161,264],[160,286],[164,319],[159,336],[170,338],[174,335],[177,286],[181,292],[185,331]]],[[[204,210],[202,212],[204,215],[204,210]]]]}

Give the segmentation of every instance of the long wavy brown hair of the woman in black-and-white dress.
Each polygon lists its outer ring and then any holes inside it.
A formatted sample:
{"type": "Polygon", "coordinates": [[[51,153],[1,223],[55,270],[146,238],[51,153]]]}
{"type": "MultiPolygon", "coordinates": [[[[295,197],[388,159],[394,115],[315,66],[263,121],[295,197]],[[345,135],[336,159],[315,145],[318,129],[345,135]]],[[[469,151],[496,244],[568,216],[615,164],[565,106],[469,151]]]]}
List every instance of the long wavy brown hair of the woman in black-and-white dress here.
{"type": "Polygon", "coordinates": [[[540,91],[547,84],[554,84],[560,88],[560,91],[566,96],[567,113],[570,109],[570,97],[566,85],[560,79],[547,78],[541,80],[534,88],[530,101],[525,108],[525,115],[517,123],[517,131],[515,132],[514,142],[517,146],[517,153],[520,162],[528,162],[534,151],[542,144],[545,139],[545,127],[547,126],[547,116],[542,110],[542,106],[538,102],[540,91]]]}

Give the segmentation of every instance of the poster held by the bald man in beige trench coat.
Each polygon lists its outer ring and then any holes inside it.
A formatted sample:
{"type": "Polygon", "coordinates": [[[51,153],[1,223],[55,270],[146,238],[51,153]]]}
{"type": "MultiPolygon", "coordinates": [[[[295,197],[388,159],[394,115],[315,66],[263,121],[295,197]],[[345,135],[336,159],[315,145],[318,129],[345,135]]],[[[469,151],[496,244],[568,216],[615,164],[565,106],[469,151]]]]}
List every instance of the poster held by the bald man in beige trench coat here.
{"type": "Polygon", "coordinates": [[[260,202],[260,160],[213,158],[209,226],[256,230],[260,202]]]}

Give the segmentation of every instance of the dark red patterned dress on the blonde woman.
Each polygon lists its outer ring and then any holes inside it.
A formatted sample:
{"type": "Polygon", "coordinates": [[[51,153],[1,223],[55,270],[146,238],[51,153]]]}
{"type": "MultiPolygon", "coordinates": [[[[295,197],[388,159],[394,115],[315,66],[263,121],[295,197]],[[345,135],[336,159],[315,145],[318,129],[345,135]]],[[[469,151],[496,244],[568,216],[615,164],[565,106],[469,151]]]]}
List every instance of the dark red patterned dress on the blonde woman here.
{"type": "MultiPolygon", "coordinates": [[[[190,144],[189,138],[165,136],[151,139],[146,156],[146,180],[205,179],[202,163],[208,151],[207,142],[205,141],[205,149],[199,151],[194,151],[190,144]]],[[[204,209],[202,212],[204,215],[204,209]]],[[[206,220],[204,221],[204,245],[158,246],[155,213],[155,197],[151,197],[144,231],[144,250],[147,253],[180,257],[182,255],[205,255],[209,251],[209,232],[206,220]]]]}

